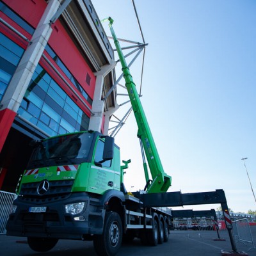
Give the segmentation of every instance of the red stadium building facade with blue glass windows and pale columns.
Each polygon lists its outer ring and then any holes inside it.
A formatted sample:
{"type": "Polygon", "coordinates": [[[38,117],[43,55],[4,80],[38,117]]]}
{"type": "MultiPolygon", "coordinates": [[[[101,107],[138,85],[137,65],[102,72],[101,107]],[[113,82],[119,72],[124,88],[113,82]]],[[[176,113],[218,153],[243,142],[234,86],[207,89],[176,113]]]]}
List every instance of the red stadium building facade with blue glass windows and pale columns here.
{"type": "Polygon", "coordinates": [[[104,113],[115,109],[115,90],[101,100],[115,80],[115,61],[97,13],[91,1],[67,2],[0,1],[2,190],[15,190],[31,139],[106,132],[104,113]],[[63,12],[60,4],[68,4],[63,12]]]}

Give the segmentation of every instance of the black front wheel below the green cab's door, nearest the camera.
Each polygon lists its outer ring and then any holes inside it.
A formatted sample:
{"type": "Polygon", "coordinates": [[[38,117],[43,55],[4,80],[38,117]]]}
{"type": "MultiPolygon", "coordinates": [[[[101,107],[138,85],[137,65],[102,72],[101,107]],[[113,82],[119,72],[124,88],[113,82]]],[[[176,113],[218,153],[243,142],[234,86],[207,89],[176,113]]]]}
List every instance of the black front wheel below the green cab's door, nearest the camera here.
{"type": "Polygon", "coordinates": [[[106,212],[102,235],[93,239],[95,252],[99,256],[116,255],[122,244],[122,221],[118,213],[106,212]]]}

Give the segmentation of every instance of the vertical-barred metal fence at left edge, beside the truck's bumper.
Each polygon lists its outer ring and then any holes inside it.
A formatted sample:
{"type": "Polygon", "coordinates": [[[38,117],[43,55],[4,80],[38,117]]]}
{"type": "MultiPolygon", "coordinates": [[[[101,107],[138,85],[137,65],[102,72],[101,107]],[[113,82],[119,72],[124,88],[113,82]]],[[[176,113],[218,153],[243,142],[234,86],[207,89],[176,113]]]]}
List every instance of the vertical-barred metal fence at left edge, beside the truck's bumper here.
{"type": "Polygon", "coordinates": [[[16,194],[0,190],[0,234],[6,234],[5,225],[15,198],[16,194]]]}

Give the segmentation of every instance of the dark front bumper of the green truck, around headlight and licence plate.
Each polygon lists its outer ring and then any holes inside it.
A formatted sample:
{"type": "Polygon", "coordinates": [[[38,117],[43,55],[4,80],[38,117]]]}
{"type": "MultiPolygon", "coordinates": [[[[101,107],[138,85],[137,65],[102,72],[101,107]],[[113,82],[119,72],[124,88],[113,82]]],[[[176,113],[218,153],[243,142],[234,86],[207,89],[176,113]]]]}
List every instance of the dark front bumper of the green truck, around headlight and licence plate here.
{"type": "Polygon", "coordinates": [[[52,198],[24,198],[19,196],[13,202],[15,213],[10,214],[6,224],[8,236],[54,237],[58,239],[84,239],[86,235],[102,234],[104,207],[90,204],[87,193],[70,193],[52,198]],[[65,213],[65,205],[84,202],[80,214],[65,213]],[[29,212],[29,207],[46,206],[46,212],[29,212]],[[84,221],[74,217],[83,216],[84,221]]]}

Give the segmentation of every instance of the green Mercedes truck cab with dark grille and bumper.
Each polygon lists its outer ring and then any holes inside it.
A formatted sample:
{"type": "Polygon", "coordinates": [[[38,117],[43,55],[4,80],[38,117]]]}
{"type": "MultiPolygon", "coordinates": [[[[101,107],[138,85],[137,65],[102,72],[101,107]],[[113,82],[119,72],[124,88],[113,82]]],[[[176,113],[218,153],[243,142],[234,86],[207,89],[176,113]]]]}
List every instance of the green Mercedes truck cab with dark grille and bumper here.
{"type": "Polygon", "coordinates": [[[113,201],[124,211],[120,152],[113,138],[76,132],[36,146],[17,188],[7,235],[26,236],[31,248],[46,251],[45,244],[52,247],[58,239],[90,240],[102,234],[113,201]]]}

